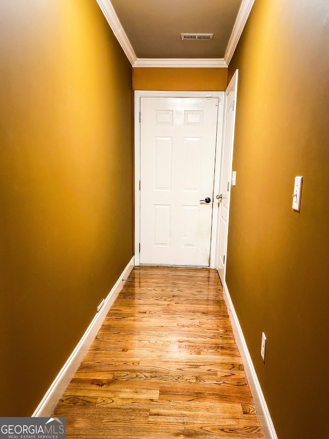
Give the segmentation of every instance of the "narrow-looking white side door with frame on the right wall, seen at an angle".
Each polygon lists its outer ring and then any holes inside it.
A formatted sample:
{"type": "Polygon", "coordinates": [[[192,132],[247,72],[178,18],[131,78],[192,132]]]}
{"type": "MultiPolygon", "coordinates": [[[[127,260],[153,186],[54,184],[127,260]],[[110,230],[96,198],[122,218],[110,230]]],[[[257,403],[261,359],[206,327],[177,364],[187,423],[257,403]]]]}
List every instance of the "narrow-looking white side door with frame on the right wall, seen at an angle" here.
{"type": "Polygon", "coordinates": [[[227,235],[229,219],[229,200],[231,189],[232,156],[234,142],[234,124],[236,107],[237,71],[230,81],[225,96],[224,103],[224,129],[221,162],[220,191],[218,194],[218,205],[220,214],[218,215],[218,235],[217,235],[217,270],[222,283],[225,280],[227,235]]]}

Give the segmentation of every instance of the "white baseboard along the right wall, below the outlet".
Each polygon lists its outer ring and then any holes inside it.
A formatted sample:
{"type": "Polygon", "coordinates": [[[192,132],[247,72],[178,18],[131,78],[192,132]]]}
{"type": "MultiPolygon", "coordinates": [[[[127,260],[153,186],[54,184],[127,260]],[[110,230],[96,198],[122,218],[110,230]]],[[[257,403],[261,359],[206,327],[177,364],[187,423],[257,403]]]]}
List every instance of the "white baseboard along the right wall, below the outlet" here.
{"type": "Polygon", "coordinates": [[[245,372],[247,376],[247,380],[249,383],[250,392],[254,401],[254,405],[259,417],[259,422],[262,428],[262,432],[264,435],[264,439],[278,439],[276,430],[274,428],[271,415],[268,411],[268,407],[263,395],[263,391],[258,380],[255,368],[253,367],[253,363],[249,354],[249,350],[246,344],[246,340],[244,338],[239,319],[237,319],[237,315],[231,300],[230,293],[228,291],[226,282],[223,285],[223,293],[227,306],[227,310],[230,316],[234,336],[236,339],[237,347],[239,347],[240,354],[242,357],[242,362],[245,367],[245,372]]]}

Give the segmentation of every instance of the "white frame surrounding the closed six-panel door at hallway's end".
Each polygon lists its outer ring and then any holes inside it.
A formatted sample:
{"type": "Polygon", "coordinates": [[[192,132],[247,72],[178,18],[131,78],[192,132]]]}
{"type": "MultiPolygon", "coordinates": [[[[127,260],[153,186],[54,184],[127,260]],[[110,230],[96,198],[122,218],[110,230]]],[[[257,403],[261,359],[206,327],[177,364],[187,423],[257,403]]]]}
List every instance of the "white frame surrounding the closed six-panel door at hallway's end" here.
{"type": "MultiPolygon", "coordinates": [[[[216,155],[214,173],[214,197],[220,186],[222,136],[223,136],[223,110],[225,92],[163,92],[163,91],[135,91],[135,266],[140,265],[139,243],[140,243],[140,98],[142,97],[181,97],[181,98],[219,98],[216,155]]],[[[216,199],[215,199],[216,200],[216,199]]],[[[215,268],[216,244],[217,244],[217,217],[218,209],[213,206],[211,223],[211,245],[210,245],[210,268],[215,268]]]]}

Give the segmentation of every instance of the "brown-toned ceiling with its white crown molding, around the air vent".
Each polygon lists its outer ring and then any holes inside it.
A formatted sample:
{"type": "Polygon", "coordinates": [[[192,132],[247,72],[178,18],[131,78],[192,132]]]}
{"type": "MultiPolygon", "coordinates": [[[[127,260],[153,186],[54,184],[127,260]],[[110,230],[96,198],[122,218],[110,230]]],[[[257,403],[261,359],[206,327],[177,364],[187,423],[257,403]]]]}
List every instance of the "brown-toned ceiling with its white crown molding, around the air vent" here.
{"type": "Polygon", "coordinates": [[[226,67],[254,0],[97,0],[133,66],[226,67]],[[180,33],[213,33],[185,40],[180,33]]]}

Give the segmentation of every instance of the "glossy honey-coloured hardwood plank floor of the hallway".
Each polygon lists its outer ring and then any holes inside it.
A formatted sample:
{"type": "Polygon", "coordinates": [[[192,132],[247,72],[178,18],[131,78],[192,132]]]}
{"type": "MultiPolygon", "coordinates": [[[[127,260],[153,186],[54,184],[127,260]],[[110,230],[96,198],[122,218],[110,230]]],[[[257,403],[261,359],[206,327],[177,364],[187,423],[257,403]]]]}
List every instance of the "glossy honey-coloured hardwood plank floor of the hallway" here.
{"type": "Polygon", "coordinates": [[[263,438],[217,272],[129,280],[52,415],[67,439],[263,438]]]}

